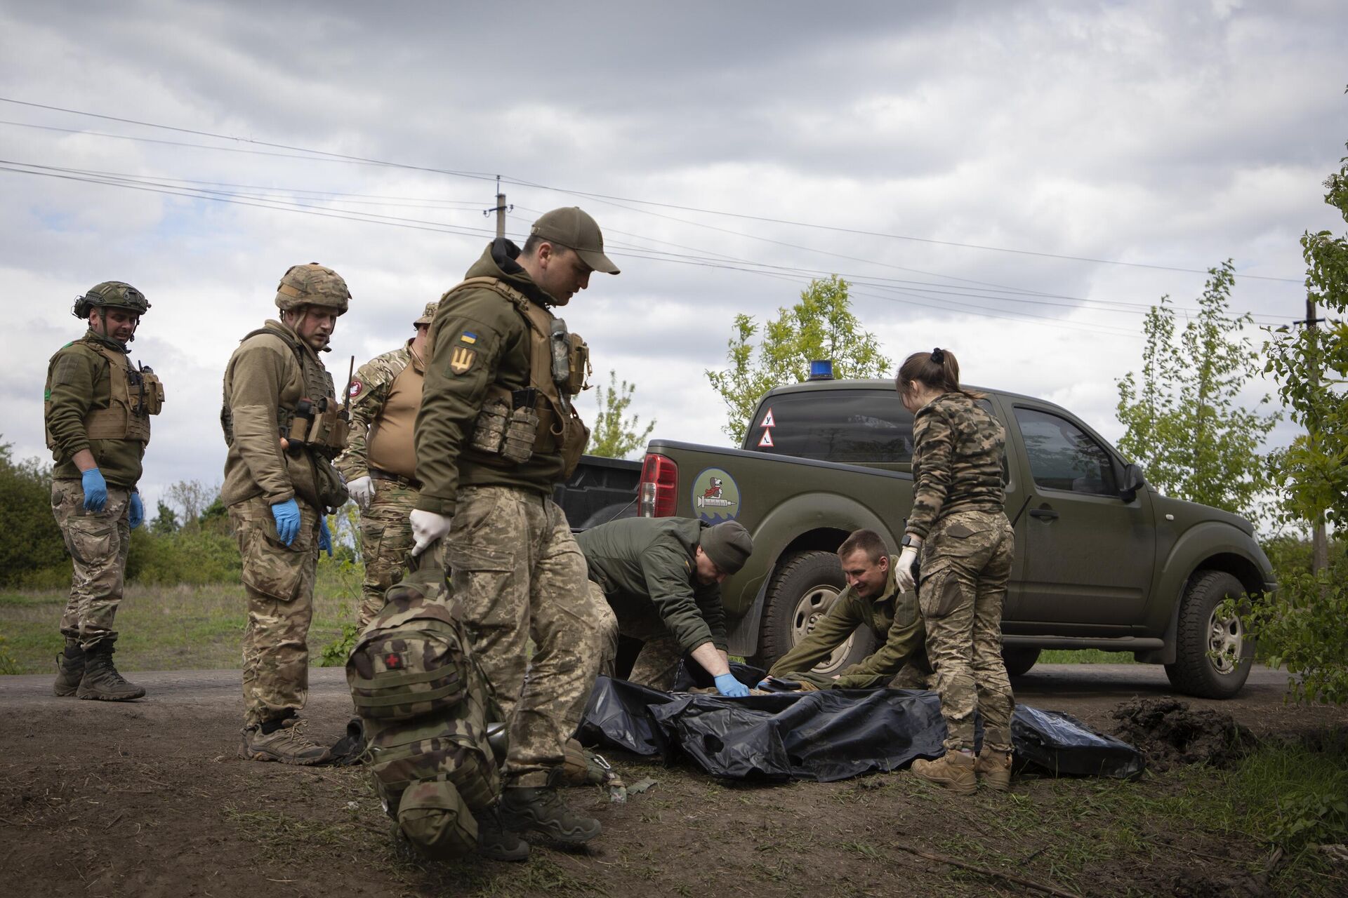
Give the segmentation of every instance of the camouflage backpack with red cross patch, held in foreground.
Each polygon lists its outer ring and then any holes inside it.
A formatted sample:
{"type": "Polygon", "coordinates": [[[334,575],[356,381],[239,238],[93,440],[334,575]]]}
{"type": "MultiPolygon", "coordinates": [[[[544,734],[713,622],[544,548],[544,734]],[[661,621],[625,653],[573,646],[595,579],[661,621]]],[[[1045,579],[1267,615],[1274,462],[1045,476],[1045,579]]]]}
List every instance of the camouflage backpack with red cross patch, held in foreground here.
{"type": "Polygon", "coordinates": [[[473,813],[500,792],[487,743],[495,700],[469,646],[445,572],[423,568],[388,590],[346,660],[363,759],[384,809],[429,858],[472,852],[473,813]]]}

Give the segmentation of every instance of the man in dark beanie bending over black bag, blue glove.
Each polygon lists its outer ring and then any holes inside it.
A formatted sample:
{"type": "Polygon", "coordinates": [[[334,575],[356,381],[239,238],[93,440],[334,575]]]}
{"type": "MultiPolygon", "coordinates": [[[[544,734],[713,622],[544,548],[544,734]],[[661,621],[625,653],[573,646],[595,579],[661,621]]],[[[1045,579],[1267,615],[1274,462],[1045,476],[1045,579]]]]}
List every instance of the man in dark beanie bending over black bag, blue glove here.
{"type": "Polygon", "coordinates": [[[748,687],[731,675],[721,580],[744,567],[754,540],[739,521],[710,526],[687,517],[632,517],[600,524],[577,537],[589,567],[590,591],[603,594],[617,634],[642,640],[632,683],[669,689],[687,653],[716,679],[725,696],[748,687]]]}

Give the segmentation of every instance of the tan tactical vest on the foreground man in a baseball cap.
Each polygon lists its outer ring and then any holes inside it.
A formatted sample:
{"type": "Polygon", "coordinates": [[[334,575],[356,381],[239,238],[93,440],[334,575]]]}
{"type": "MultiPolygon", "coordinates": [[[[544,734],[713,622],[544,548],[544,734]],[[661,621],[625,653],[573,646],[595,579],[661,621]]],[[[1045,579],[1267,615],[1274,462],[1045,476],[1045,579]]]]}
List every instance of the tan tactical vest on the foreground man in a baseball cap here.
{"type": "MultiPolygon", "coordinates": [[[[532,452],[559,454],[562,456],[562,474],[570,477],[589,442],[589,428],[585,427],[572,404],[572,397],[586,388],[585,381],[592,370],[589,346],[578,334],[568,333],[566,323],[547,311],[545,306],[532,302],[496,277],[469,277],[450,288],[441,298],[441,303],[458,291],[472,287],[485,287],[508,299],[528,326],[528,385],[543,399],[534,407],[538,423],[534,425],[532,452]]],[[[512,456],[510,451],[508,419],[514,405],[511,390],[500,384],[488,385],[483,412],[474,427],[479,432],[487,431],[491,435],[500,428],[503,439],[496,442],[501,448],[496,451],[511,460],[523,462],[528,459],[527,454],[522,452],[523,458],[519,458],[518,455],[512,456]]],[[[488,438],[488,446],[489,443],[488,438]]],[[[492,451],[477,439],[473,440],[473,444],[477,448],[492,451]]]]}

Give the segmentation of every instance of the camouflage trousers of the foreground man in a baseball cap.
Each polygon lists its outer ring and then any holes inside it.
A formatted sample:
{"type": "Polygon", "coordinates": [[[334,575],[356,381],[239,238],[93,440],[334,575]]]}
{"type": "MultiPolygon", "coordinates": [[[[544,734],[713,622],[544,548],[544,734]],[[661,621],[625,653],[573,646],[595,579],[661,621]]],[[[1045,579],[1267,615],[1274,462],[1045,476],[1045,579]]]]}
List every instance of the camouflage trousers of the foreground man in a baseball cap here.
{"type": "Polygon", "coordinates": [[[466,486],[445,541],[473,653],[510,727],[501,778],[547,785],[585,712],[612,611],[590,596],[585,556],[550,498],[466,486]]]}

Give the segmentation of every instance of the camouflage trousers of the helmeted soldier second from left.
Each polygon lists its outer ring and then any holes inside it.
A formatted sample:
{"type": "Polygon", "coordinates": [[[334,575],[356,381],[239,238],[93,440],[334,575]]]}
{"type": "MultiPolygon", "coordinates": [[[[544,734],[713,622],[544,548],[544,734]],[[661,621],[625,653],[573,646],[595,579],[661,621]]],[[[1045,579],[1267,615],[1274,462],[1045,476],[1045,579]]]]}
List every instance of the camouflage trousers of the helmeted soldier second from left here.
{"type": "Polygon", "coordinates": [[[318,510],[299,502],[299,533],[286,545],[271,504],[229,506],[248,599],[244,626],[244,728],[299,712],[309,697],[309,622],[314,617],[318,510]]]}

